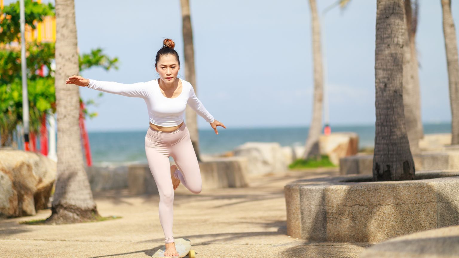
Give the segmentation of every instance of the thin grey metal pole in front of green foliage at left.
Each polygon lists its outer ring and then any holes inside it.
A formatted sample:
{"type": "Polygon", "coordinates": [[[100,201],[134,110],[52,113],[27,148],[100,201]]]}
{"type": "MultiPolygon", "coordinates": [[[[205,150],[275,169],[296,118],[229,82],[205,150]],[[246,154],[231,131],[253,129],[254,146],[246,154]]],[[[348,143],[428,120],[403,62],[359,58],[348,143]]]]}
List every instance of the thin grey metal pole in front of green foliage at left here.
{"type": "Polygon", "coordinates": [[[27,61],[26,61],[26,44],[25,44],[25,14],[24,0],[19,2],[20,22],[21,22],[21,68],[22,68],[22,123],[24,126],[24,150],[29,150],[29,111],[28,111],[28,94],[27,94],[27,61]]]}

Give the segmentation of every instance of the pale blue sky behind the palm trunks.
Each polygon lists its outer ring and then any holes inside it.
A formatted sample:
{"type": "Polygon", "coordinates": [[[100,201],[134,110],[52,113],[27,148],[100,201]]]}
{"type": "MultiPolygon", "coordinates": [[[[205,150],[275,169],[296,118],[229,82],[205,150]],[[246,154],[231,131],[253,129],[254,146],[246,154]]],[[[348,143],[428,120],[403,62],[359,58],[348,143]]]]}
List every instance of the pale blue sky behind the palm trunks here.
{"type": "MultiPolygon", "coordinates": [[[[318,0],[319,11],[336,0],[318,0]]],[[[6,0],[8,4],[11,0],[6,0]]],[[[44,0],[44,2],[46,2],[44,0]]],[[[312,116],[313,63],[307,0],[190,0],[197,95],[228,128],[308,126],[312,116]]],[[[78,47],[101,47],[119,69],[82,75],[135,83],[157,78],[154,59],[165,38],[176,43],[182,66],[179,0],[76,0],[78,47]]],[[[452,3],[456,33],[459,4],[452,3]]],[[[329,87],[330,124],[375,123],[376,0],[352,0],[322,22],[329,87]]],[[[439,0],[420,0],[416,36],[422,120],[449,122],[448,73],[439,0]]],[[[184,78],[184,67],[179,77],[184,78]]],[[[186,79],[186,78],[185,78],[186,79]]],[[[99,91],[81,88],[84,99],[99,91]]],[[[145,102],[104,93],[89,131],[148,128],[145,102]]],[[[210,129],[201,117],[198,126],[210,129]]]]}

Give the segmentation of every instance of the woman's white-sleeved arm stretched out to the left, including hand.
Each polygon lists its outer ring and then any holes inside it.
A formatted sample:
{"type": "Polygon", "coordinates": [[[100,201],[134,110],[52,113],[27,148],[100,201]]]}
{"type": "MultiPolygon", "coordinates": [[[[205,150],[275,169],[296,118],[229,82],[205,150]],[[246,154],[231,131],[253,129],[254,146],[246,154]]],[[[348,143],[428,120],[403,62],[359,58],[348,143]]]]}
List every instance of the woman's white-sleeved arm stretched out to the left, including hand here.
{"type": "Polygon", "coordinates": [[[150,94],[149,85],[146,82],[122,84],[117,82],[98,81],[95,79],[85,79],[81,76],[73,75],[67,79],[66,84],[76,84],[78,86],[128,97],[145,98],[150,94]]]}

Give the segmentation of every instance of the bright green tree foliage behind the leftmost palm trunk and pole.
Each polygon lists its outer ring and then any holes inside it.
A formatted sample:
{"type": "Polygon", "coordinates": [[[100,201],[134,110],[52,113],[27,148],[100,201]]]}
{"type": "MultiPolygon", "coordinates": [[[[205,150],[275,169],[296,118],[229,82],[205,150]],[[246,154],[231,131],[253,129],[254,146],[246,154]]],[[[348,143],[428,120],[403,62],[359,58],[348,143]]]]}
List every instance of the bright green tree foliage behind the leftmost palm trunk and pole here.
{"type": "MultiPolygon", "coordinates": [[[[32,28],[35,28],[34,21],[42,21],[45,16],[55,15],[51,3],[39,4],[32,0],[25,1],[25,13],[25,22],[32,28]]],[[[0,13],[0,42],[0,143],[1,146],[6,146],[11,143],[17,125],[22,123],[21,49],[18,45],[20,42],[19,1],[5,6],[0,13]]],[[[54,71],[51,69],[54,55],[53,42],[26,42],[29,129],[35,135],[39,135],[42,116],[56,112],[54,71]],[[35,73],[42,65],[50,71],[45,77],[35,73]]],[[[105,70],[118,69],[118,58],[110,58],[101,48],[97,48],[91,50],[89,54],[84,53],[79,56],[78,64],[80,72],[90,67],[102,67],[105,70]]],[[[101,95],[100,93],[98,97],[101,95]]],[[[85,102],[86,107],[90,105],[97,106],[94,100],[85,102]]],[[[89,113],[86,108],[83,113],[89,118],[97,116],[96,112],[89,113]]]]}

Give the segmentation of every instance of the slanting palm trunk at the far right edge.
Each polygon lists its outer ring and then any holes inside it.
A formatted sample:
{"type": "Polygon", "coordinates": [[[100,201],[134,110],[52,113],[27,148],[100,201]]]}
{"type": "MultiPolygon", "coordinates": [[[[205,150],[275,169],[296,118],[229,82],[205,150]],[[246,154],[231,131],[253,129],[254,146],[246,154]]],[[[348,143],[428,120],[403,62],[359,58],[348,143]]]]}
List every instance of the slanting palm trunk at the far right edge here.
{"type": "Polygon", "coordinates": [[[448,63],[449,102],[451,105],[451,144],[459,144],[459,62],[456,30],[451,15],[451,0],[441,0],[443,11],[443,35],[448,63]]]}

